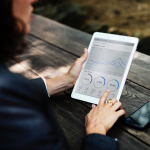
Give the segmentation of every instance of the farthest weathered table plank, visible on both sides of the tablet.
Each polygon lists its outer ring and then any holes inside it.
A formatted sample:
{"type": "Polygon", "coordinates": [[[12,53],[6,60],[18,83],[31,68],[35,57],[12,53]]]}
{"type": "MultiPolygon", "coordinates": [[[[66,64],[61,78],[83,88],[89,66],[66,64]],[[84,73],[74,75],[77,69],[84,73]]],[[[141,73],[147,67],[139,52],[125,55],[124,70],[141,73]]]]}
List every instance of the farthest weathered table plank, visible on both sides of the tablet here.
{"type": "MultiPolygon", "coordinates": [[[[31,27],[30,34],[78,57],[82,55],[83,48],[88,47],[92,37],[90,34],[72,29],[38,15],[34,15],[31,27]]],[[[149,56],[136,52],[128,79],[150,89],[150,78],[148,76],[150,73],[149,64],[149,56]]]]}

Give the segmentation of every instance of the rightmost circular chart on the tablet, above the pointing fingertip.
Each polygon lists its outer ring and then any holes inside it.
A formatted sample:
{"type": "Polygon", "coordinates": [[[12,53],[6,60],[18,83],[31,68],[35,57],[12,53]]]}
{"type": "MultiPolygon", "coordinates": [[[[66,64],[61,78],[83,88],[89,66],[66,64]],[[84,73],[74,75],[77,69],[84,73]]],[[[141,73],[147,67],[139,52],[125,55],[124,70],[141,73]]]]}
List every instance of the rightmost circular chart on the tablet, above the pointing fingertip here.
{"type": "Polygon", "coordinates": [[[107,89],[111,92],[116,91],[119,88],[119,82],[116,79],[110,80],[107,83],[107,89]]]}

